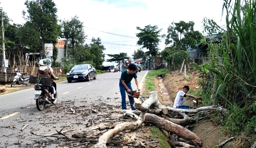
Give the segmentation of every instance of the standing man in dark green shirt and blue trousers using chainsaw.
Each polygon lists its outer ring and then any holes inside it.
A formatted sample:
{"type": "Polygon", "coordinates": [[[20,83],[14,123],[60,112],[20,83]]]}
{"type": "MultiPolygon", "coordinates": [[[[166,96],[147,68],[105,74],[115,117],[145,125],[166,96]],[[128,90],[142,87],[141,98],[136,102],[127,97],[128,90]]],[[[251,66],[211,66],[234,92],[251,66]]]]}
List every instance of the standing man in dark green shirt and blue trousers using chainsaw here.
{"type": "MultiPolygon", "coordinates": [[[[119,88],[120,88],[120,93],[122,96],[122,109],[126,109],[126,92],[130,93],[133,88],[131,88],[131,80],[134,78],[135,83],[137,85],[138,90],[139,89],[139,83],[137,80],[137,74],[135,71],[137,70],[137,67],[134,64],[130,64],[128,66],[128,70],[125,69],[123,70],[121,74],[121,78],[119,80],[119,88]]],[[[131,104],[131,110],[135,110],[133,107],[134,99],[131,96],[128,96],[129,102],[131,104]]]]}

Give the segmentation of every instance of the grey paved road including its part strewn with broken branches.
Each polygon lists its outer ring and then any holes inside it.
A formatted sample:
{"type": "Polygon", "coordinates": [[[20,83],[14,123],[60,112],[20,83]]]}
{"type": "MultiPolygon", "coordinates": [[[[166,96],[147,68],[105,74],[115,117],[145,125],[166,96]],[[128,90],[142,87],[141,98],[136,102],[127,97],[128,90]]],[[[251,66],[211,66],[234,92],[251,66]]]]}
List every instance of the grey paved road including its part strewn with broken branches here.
{"type": "MultiPolygon", "coordinates": [[[[141,82],[145,74],[146,71],[141,71],[137,74],[139,82],[141,82]]],[[[34,129],[38,129],[36,130],[38,133],[52,133],[55,131],[53,124],[56,125],[56,129],[61,129],[64,125],[81,121],[81,119],[74,118],[72,114],[65,114],[62,109],[58,109],[58,106],[65,106],[65,104],[82,106],[99,102],[121,105],[121,95],[119,92],[120,77],[121,72],[105,73],[97,75],[97,79],[90,82],[57,83],[57,105],[53,108],[45,108],[43,111],[38,111],[35,105],[34,88],[0,96],[0,147],[19,147],[19,145],[11,145],[17,142],[17,140],[19,140],[18,142],[23,140],[21,144],[33,142],[29,138],[39,138],[30,134],[30,131],[34,129]],[[1,119],[6,116],[6,119],[1,119]],[[19,122],[21,120],[26,121],[19,122]],[[44,124],[48,122],[51,124],[44,124]],[[26,124],[29,124],[29,126],[24,131],[21,131],[20,129],[26,124]],[[5,127],[10,125],[15,125],[16,128],[10,129],[5,127]],[[9,134],[11,135],[5,136],[9,134]],[[27,137],[22,138],[22,136],[27,137]]],[[[134,79],[132,80],[132,87],[137,89],[134,79]]],[[[128,101],[128,97],[126,100],[128,101]]],[[[130,109],[130,105],[127,105],[127,109],[130,109]]],[[[69,108],[66,108],[66,110],[69,110],[69,108]]],[[[80,126],[73,126],[73,128],[81,126],[82,124],[80,126]]]]}

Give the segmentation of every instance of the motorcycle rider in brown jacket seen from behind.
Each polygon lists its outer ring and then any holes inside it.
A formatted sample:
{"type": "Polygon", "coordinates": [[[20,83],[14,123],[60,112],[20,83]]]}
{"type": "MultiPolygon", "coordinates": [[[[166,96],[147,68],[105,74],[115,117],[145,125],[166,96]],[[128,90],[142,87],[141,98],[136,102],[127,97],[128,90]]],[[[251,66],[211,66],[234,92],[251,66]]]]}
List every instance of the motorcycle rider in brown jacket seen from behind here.
{"type": "MultiPolygon", "coordinates": [[[[53,72],[43,64],[43,59],[39,61],[39,68],[37,69],[37,77],[39,78],[51,78],[54,80],[59,79],[58,77],[55,77],[53,72]]],[[[53,86],[50,87],[50,92],[51,92],[51,99],[54,100],[54,88],[53,86]]]]}

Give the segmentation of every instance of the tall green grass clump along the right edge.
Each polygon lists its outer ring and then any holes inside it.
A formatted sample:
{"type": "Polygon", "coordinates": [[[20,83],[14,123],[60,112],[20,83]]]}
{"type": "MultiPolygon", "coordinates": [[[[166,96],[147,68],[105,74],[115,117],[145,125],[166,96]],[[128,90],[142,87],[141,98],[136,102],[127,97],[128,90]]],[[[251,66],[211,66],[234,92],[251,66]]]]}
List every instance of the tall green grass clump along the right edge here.
{"type": "Polygon", "coordinates": [[[222,14],[226,26],[204,19],[209,35],[217,32],[220,40],[208,44],[211,62],[201,66],[207,77],[205,91],[212,101],[229,111],[223,130],[232,135],[245,135],[254,143],[256,132],[256,1],[224,0],[222,14]]]}

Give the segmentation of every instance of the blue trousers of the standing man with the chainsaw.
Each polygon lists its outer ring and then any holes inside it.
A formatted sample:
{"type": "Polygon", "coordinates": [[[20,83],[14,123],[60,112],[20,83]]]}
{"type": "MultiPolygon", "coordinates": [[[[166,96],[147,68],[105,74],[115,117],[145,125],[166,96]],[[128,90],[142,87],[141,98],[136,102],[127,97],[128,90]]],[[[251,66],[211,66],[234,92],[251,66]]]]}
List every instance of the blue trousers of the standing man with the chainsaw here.
{"type": "MultiPolygon", "coordinates": [[[[130,90],[133,90],[133,88],[131,88],[131,82],[130,83],[127,83],[126,84],[127,87],[130,89],[130,90]]],[[[120,88],[120,93],[121,93],[121,96],[122,96],[122,109],[126,109],[126,88],[123,86],[122,82],[119,82],[119,88],[120,88]]],[[[135,108],[133,107],[133,103],[134,103],[134,99],[133,97],[131,96],[128,96],[129,98],[129,102],[131,104],[131,110],[135,110],[135,108]]]]}

